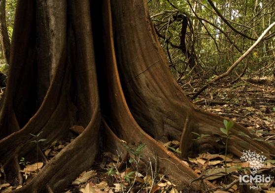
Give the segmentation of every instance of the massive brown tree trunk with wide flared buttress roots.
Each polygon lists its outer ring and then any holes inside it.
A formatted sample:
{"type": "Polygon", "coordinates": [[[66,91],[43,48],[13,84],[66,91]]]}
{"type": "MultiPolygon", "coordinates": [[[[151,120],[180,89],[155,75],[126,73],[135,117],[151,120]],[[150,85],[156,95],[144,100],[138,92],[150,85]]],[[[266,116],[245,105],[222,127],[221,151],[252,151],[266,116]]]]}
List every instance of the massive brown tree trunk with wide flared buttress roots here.
{"type": "MultiPolygon", "coordinates": [[[[211,135],[199,145],[213,151],[221,146],[210,143],[222,135],[223,118],[194,106],[173,80],[146,0],[19,0],[10,58],[0,103],[4,167],[18,168],[18,157],[32,153],[30,133],[43,131],[44,146],[66,135],[70,126],[85,128],[14,192],[61,191],[92,165],[102,138],[110,150],[123,150],[119,138],[147,144],[147,157],[155,157],[159,169],[186,185],[198,175],[159,140],[180,140],[182,158],[196,151],[190,132],[211,135]],[[107,117],[103,121],[101,114],[107,117]]],[[[238,136],[239,131],[255,137],[236,124],[229,140],[232,153],[240,156],[251,149],[275,154],[270,145],[238,136]]],[[[196,181],[192,187],[214,185],[196,181]]]]}

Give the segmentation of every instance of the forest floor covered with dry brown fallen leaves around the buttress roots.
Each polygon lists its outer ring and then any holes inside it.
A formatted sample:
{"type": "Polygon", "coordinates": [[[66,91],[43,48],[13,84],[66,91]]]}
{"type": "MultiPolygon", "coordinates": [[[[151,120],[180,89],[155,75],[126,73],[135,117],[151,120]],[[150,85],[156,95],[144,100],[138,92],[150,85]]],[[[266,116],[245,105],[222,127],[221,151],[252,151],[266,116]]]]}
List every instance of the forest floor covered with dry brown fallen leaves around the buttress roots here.
{"type": "MultiPolygon", "coordinates": [[[[188,96],[192,96],[194,88],[183,87],[188,96]]],[[[261,140],[265,140],[275,145],[275,84],[268,80],[261,83],[243,83],[239,82],[233,86],[229,83],[219,83],[206,89],[202,95],[193,102],[202,109],[230,118],[232,121],[242,124],[251,132],[255,132],[261,140]],[[264,83],[264,84],[263,84],[264,83]]],[[[62,150],[77,135],[70,132],[68,138],[63,141],[55,141],[42,152],[50,160],[62,150]]],[[[179,156],[179,142],[169,141],[163,144],[167,149],[179,156]]],[[[139,159],[142,157],[142,148],[129,147],[132,154],[136,156],[122,159],[119,154],[114,155],[104,152],[99,155],[98,161],[90,170],[83,171],[80,176],[64,190],[64,193],[197,193],[188,187],[182,187],[173,184],[172,180],[159,173],[154,168],[155,162],[152,160],[144,165],[139,159]]],[[[34,159],[35,160],[35,159],[34,159]]],[[[24,181],[28,182],[35,176],[35,173],[43,166],[42,162],[24,158],[20,160],[22,175],[24,181]],[[30,161],[31,163],[28,163],[30,161]],[[37,170],[38,168],[38,170],[37,170]]],[[[217,171],[225,169],[224,152],[210,154],[202,153],[194,158],[183,161],[184,164],[191,167],[199,175],[206,175],[207,180],[213,184],[226,187],[230,182],[237,181],[239,175],[249,173],[248,162],[242,162],[240,158],[232,154],[227,156],[227,177],[224,174],[215,175],[217,171]],[[227,183],[225,183],[225,180],[227,183]]],[[[264,168],[260,170],[261,174],[274,175],[275,160],[268,160],[264,168]]],[[[0,177],[5,175],[0,171],[0,177]]],[[[9,174],[5,177],[5,183],[0,183],[0,192],[7,193],[15,188],[20,188],[16,182],[8,180],[9,174]]],[[[11,176],[10,179],[14,179],[11,176]]],[[[265,187],[262,187],[265,193],[275,193],[274,180],[265,187]]],[[[229,193],[239,193],[241,187],[232,184],[227,190],[229,193]]],[[[199,192],[198,192],[199,193],[199,192]]]]}

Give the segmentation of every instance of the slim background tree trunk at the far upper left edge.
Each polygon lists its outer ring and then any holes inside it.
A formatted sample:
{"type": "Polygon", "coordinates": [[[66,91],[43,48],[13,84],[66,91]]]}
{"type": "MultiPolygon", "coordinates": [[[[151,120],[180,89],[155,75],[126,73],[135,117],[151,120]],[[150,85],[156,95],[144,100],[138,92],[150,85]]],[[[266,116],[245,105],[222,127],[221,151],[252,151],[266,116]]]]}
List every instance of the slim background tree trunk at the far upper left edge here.
{"type": "Polygon", "coordinates": [[[6,25],[6,0],[0,0],[0,44],[3,57],[9,63],[10,41],[6,25]]]}

